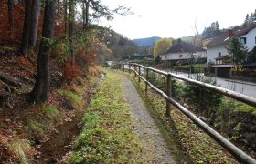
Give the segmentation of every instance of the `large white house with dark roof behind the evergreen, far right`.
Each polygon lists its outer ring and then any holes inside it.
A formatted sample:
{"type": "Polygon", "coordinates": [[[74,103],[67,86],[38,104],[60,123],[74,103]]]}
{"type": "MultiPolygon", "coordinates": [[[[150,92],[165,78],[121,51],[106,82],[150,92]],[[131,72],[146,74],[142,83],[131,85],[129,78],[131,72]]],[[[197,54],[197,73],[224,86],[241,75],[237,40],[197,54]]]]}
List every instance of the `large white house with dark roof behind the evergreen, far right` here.
{"type": "Polygon", "coordinates": [[[240,42],[251,51],[256,46],[256,24],[236,27],[221,32],[219,36],[212,38],[212,41],[207,45],[207,63],[222,64],[223,56],[229,55],[226,47],[232,36],[239,37],[240,42]]]}

